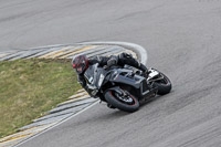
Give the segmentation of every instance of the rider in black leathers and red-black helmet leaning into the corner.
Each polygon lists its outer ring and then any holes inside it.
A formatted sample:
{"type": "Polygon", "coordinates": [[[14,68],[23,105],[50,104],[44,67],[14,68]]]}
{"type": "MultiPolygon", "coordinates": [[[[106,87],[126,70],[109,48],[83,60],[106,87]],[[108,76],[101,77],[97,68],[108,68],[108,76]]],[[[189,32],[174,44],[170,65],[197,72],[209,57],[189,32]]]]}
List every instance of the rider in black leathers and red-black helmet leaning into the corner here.
{"type": "Polygon", "coordinates": [[[76,70],[78,75],[78,83],[84,87],[85,91],[88,92],[86,81],[84,78],[84,72],[87,70],[90,65],[98,63],[102,67],[109,67],[112,65],[124,66],[125,64],[137,67],[141,70],[146,76],[148,76],[148,69],[136,59],[128,53],[120,53],[119,55],[110,55],[110,56],[95,56],[93,59],[87,59],[86,55],[77,55],[73,59],[72,65],[73,69],[76,70]]]}

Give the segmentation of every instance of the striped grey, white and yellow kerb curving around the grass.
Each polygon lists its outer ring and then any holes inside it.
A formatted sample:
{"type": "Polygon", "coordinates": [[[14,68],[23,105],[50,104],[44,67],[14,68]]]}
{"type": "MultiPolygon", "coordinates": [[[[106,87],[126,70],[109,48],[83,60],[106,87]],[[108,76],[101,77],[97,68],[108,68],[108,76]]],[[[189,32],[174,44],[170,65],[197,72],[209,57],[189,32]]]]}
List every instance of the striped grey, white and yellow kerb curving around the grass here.
{"type": "MultiPolygon", "coordinates": [[[[19,52],[2,52],[0,53],[0,61],[12,61],[18,59],[73,59],[75,55],[86,54],[88,57],[95,55],[113,55],[122,52],[131,53],[137,57],[136,53],[124,48],[124,45],[114,44],[73,44],[73,45],[55,45],[44,46],[38,49],[23,50],[19,52]],[[96,45],[95,45],[96,44],[96,45]]],[[[71,65],[71,63],[70,63],[71,65]]],[[[23,140],[33,137],[49,128],[52,128],[70,117],[77,115],[87,107],[94,105],[98,99],[92,98],[84,90],[77,91],[77,94],[69,97],[64,103],[57,107],[45,112],[44,116],[33,119],[32,124],[23,126],[20,132],[0,139],[0,147],[13,146],[23,140]]]]}

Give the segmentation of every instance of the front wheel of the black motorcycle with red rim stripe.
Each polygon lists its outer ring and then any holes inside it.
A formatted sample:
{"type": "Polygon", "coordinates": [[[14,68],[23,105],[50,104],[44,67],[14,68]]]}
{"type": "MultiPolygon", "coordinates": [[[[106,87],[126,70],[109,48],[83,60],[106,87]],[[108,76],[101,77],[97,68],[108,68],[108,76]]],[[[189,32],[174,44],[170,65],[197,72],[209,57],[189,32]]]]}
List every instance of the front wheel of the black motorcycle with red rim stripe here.
{"type": "Polygon", "coordinates": [[[105,93],[105,99],[108,104],[120,111],[129,113],[136,112],[139,108],[138,99],[128,92],[125,93],[126,94],[120,95],[119,93],[109,90],[105,93]]]}

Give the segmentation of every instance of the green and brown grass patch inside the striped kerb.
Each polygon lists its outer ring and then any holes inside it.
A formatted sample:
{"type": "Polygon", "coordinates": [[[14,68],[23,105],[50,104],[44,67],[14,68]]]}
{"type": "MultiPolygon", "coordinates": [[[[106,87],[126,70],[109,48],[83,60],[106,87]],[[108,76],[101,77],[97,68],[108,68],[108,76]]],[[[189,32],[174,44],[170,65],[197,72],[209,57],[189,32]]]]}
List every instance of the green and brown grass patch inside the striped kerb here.
{"type": "Polygon", "coordinates": [[[70,61],[0,62],[0,138],[18,132],[80,88],[70,61]]]}

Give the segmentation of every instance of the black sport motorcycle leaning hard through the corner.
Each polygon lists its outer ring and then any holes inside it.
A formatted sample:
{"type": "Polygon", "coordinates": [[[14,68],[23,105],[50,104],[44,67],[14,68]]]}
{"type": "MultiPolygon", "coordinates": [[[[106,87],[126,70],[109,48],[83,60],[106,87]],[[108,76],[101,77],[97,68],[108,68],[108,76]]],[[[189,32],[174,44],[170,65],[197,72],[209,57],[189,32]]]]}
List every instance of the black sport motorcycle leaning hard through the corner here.
{"type": "Polygon", "coordinates": [[[145,77],[141,71],[133,66],[104,69],[94,64],[85,71],[84,77],[91,96],[130,113],[139,108],[141,99],[171,91],[169,78],[155,69],[150,69],[148,77],[145,77]]]}

